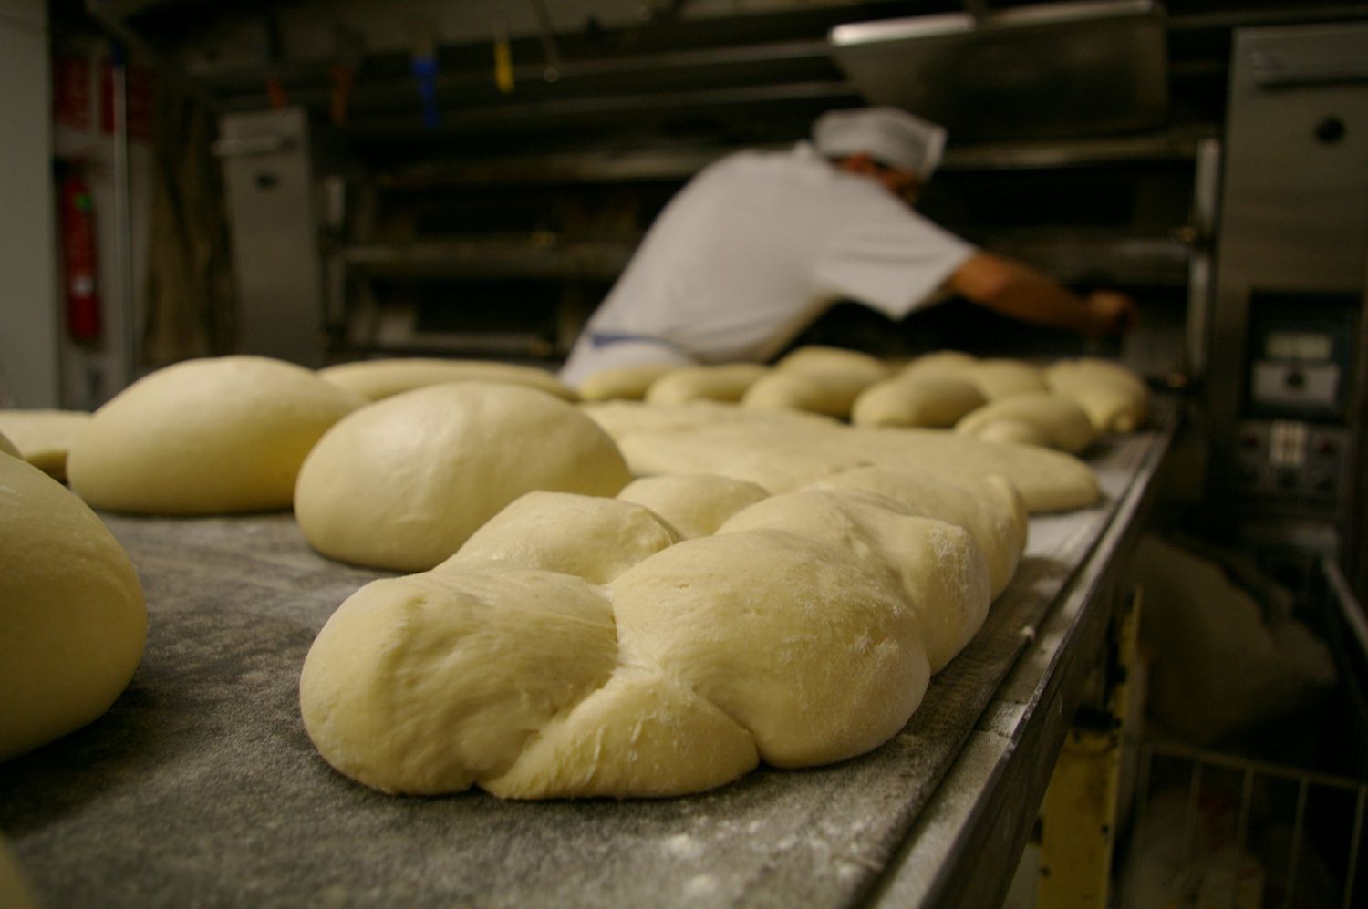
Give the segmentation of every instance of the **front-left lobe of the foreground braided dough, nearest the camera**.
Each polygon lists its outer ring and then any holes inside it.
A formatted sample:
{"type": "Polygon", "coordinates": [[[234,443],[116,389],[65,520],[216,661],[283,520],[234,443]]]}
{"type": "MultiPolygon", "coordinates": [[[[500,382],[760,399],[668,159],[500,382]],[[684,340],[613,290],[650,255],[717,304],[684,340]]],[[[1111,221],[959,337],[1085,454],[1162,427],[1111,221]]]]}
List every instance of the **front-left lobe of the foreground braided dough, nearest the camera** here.
{"type": "Polygon", "coordinates": [[[300,711],[319,753],[387,793],[494,778],[553,716],[602,686],[617,641],[603,592],[520,569],[372,581],[309,648],[300,711]]]}

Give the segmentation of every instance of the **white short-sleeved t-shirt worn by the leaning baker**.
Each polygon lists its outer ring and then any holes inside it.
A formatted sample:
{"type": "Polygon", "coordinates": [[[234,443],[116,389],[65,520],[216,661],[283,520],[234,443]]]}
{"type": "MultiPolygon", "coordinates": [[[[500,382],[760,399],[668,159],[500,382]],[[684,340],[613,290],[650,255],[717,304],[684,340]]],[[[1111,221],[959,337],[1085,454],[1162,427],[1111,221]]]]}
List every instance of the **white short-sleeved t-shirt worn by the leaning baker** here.
{"type": "Polygon", "coordinates": [[[698,174],[651,226],[561,379],[642,362],[763,362],[837,299],[891,318],[974,247],[802,142],[698,174]]]}

